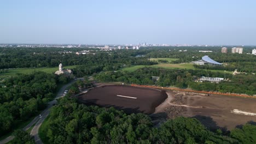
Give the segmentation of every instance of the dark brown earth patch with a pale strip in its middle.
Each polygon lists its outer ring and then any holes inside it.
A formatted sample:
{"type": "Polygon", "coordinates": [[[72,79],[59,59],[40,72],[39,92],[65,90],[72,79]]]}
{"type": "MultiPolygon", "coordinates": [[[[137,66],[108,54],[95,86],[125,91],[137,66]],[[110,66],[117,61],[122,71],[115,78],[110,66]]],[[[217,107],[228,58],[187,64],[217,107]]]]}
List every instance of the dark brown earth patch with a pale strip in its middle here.
{"type": "Polygon", "coordinates": [[[78,99],[84,104],[98,105],[103,107],[113,106],[124,110],[126,113],[154,113],[155,107],[167,98],[165,91],[152,88],[132,86],[102,86],[93,88],[78,99]],[[118,97],[124,95],[137,99],[118,97]]]}

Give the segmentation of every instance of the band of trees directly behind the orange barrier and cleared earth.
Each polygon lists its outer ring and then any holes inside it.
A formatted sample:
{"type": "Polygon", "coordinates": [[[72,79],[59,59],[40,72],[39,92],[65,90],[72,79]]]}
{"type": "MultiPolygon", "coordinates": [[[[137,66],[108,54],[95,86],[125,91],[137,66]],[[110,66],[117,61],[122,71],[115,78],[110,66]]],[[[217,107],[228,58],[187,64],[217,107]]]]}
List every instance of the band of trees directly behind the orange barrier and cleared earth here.
{"type": "Polygon", "coordinates": [[[175,86],[192,88],[197,91],[217,91],[223,93],[256,94],[256,77],[253,74],[231,75],[208,70],[162,69],[145,67],[136,71],[107,71],[99,73],[95,79],[103,82],[125,82],[138,85],[158,85],[162,87],[175,86]],[[159,76],[159,80],[152,79],[159,76]],[[219,83],[195,82],[201,76],[223,77],[227,81],[219,83]]]}

